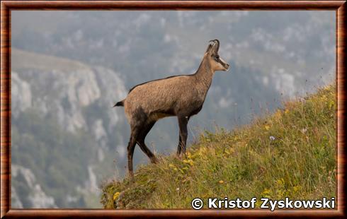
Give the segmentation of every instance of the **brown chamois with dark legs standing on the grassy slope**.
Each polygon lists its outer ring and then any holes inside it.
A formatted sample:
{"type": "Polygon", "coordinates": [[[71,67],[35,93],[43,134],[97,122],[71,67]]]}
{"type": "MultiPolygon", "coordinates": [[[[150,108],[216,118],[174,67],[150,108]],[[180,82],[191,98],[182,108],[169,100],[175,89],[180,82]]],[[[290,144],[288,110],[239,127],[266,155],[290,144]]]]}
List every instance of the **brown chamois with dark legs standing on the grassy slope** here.
{"type": "Polygon", "coordinates": [[[151,150],[144,143],[155,122],[164,117],[178,117],[179,141],[177,155],[186,153],[187,124],[194,114],[198,114],[212,83],[215,71],[227,71],[227,64],[218,55],[220,42],[210,40],[198,71],[190,75],[171,76],[136,85],[130,89],[127,97],[113,107],[123,106],[131,134],[127,146],[129,176],[132,172],[132,155],[136,143],[146,153],[152,163],[157,162],[151,150]]]}

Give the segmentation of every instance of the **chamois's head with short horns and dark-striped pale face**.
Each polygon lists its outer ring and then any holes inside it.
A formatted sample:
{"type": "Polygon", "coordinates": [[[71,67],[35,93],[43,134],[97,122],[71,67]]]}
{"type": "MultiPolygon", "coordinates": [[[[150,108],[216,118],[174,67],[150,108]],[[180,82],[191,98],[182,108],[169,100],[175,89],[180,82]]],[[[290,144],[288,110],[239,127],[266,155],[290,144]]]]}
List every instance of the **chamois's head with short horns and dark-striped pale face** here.
{"type": "Polygon", "coordinates": [[[229,64],[220,57],[218,49],[220,49],[220,41],[210,40],[205,52],[205,57],[210,62],[213,71],[227,71],[229,69],[229,64]]]}

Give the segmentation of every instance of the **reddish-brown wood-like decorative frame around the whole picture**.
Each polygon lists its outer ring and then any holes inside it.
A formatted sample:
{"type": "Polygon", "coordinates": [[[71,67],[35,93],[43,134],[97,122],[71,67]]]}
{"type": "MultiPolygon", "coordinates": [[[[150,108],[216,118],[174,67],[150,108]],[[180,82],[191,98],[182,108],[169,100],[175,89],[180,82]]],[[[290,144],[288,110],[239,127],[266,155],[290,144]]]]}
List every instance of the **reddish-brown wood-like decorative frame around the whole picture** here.
{"type": "Polygon", "coordinates": [[[346,1],[1,1],[1,218],[346,216],[346,1]],[[335,10],[337,210],[102,210],[11,208],[11,11],[13,10],[335,10]]]}

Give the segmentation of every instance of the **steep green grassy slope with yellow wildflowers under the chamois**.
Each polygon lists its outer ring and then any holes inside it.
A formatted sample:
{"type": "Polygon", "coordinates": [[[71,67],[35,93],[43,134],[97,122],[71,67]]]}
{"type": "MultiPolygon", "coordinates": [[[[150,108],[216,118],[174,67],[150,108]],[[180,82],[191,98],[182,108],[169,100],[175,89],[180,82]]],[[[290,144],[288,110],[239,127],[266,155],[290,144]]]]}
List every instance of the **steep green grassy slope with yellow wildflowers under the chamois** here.
{"type": "Polygon", "coordinates": [[[205,133],[186,158],[163,157],[139,167],[135,183],[124,179],[102,189],[104,208],[191,208],[195,197],[336,196],[335,86],[248,126],[205,133]]]}

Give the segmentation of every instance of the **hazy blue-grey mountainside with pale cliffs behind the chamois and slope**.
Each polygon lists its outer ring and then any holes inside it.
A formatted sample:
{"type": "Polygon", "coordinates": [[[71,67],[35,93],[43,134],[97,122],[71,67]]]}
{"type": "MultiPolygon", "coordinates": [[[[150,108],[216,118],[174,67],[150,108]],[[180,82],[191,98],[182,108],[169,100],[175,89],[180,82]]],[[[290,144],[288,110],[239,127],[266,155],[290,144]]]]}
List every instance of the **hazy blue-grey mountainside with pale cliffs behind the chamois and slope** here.
{"type": "MultiPolygon", "coordinates": [[[[194,73],[219,39],[217,72],[188,126],[232,129],[331,83],[335,11],[12,11],[12,208],[98,208],[101,182],[124,176],[129,125],[111,108],[132,86],[194,73]]],[[[176,118],[147,137],[176,150],[176,118]]],[[[135,149],[135,163],[147,158],[135,149]]]]}

